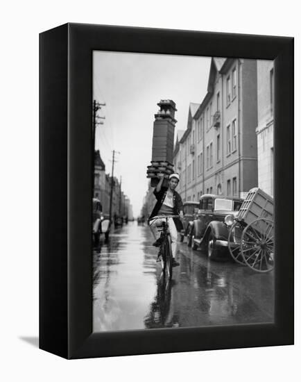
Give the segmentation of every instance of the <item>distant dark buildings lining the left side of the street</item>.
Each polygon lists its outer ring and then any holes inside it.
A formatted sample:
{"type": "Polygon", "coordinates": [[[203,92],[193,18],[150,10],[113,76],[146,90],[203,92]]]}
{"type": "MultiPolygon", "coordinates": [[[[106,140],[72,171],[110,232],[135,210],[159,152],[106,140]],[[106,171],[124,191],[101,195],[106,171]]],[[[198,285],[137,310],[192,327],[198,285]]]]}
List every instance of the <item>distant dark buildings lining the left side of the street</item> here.
{"type": "MultiPolygon", "coordinates": [[[[94,198],[101,201],[103,214],[110,214],[110,174],[105,174],[105,164],[101,159],[99,150],[94,153],[94,198]]],[[[121,190],[121,182],[114,176],[112,189],[112,217],[121,216],[132,219],[132,205],[130,199],[121,190]]]]}

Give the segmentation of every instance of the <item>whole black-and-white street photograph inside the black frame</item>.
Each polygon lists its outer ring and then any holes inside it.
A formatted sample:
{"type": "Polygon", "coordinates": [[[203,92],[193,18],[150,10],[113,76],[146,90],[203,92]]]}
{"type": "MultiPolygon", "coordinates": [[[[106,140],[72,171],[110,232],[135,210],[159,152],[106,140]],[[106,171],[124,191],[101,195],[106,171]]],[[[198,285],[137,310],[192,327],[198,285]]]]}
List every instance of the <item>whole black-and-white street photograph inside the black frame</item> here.
{"type": "Polygon", "coordinates": [[[275,322],[273,60],[93,52],[93,331],[275,322]]]}

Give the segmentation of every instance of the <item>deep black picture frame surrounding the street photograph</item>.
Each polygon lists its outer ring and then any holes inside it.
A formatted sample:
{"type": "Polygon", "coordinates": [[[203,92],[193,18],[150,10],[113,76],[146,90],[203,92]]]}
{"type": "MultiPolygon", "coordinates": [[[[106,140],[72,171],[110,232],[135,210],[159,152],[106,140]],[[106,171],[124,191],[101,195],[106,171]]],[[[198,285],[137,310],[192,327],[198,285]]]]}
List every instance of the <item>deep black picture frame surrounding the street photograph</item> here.
{"type": "Polygon", "coordinates": [[[293,38],[65,24],[40,34],[40,349],[87,358],[293,344],[293,38]],[[92,333],[92,53],[275,60],[275,323],[92,333]]]}

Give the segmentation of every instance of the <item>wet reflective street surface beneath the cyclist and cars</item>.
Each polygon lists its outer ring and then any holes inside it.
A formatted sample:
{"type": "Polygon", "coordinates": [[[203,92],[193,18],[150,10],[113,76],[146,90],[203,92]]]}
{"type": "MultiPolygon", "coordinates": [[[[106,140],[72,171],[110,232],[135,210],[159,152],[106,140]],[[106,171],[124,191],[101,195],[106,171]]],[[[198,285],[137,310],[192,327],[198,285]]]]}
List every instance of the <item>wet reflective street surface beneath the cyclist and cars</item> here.
{"type": "Polygon", "coordinates": [[[178,243],[166,283],[148,226],[129,222],[94,250],[94,332],[273,322],[274,274],[178,243]]]}

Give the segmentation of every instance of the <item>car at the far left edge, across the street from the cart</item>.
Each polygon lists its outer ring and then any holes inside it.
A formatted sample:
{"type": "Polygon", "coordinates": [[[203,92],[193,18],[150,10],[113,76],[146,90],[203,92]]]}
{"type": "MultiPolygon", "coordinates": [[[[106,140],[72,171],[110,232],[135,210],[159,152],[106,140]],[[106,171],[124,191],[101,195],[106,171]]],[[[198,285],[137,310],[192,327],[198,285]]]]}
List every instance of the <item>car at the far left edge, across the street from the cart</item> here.
{"type": "Polygon", "coordinates": [[[92,220],[93,244],[97,246],[101,240],[101,235],[104,235],[105,240],[108,240],[111,224],[109,216],[103,215],[101,201],[96,198],[93,198],[92,201],[92,220]]]}

